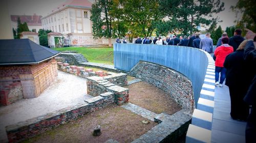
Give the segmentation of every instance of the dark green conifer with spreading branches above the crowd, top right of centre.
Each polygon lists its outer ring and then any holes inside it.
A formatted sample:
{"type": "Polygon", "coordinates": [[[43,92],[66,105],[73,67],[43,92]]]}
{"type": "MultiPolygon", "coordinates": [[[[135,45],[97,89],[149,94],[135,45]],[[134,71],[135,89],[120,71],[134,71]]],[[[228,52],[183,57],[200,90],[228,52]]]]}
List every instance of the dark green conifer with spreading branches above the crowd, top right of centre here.
{"type": "Polygon", "coordinates": [[[212,14],[224,10],[224,3],[220,0],[173,0],[160,1],[160,10],[167,16],[168,21],[175,23],[184,35],[197,32],[198,25],[209,25],[218,21],[212,14]]]}

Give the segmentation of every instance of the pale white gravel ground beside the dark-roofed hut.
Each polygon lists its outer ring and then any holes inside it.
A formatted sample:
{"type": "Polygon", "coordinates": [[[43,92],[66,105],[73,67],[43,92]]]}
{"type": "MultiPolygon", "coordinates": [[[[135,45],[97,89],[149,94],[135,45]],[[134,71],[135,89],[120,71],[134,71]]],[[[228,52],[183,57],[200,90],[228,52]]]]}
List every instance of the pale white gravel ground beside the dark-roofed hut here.
{"type": "Polygon", "coordinates": [[[6,126],[82,103],[88,98],[91,96],[87,95],[85,78],[58,71],[54,82],[39,97],[0,107],[0,142],[7,141],[6,126]]]}

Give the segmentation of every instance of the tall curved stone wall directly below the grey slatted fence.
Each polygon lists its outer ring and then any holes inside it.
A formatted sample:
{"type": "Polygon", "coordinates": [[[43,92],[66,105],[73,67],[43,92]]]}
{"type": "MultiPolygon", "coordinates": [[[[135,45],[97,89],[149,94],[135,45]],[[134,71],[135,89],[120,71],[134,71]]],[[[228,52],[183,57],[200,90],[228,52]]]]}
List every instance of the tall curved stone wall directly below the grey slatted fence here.
{"type": "Polygon", "coordinates": [[[195,102],[191,81],[183,74],[153,63],[140,61],[129,73],[169,93],[183,108],[193,110],[195,102]]]}

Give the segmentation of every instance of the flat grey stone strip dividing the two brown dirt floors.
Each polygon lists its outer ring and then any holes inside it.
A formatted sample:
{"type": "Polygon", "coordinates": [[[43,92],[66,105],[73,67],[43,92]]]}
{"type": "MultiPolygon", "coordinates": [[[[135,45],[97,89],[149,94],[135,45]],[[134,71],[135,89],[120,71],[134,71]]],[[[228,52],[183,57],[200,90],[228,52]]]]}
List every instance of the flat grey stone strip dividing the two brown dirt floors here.
{"type": "Polygon", "coordinates": [[[127,103],[127,104],[124,104],[122,105],[121,107],[127,109],[127,110],[130,110],[134,113],[137,113],[138,115],[148,119],[148,120],[151,120],[151,121],[154,121],[154,118],[157,116],[156,113],[150,111],[150,110],[147,110],[145,108],[142,108],[140,106],[137,106],[137,105],[134,105],[132,103],[127,103]]]}

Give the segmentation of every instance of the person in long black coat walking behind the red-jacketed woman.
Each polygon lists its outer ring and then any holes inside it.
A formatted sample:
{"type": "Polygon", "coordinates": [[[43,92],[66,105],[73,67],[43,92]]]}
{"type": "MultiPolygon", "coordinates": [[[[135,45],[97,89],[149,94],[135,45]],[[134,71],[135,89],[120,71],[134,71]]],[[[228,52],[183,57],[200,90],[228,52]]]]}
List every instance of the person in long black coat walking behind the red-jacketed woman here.
{"type": "Polygon", "coordinates": [[[244,47],[247,40],[244,40],[237,51],[227,55],[224,68],[226,72],[225,84],[229,88],[231,101],[230,116],[234,120],[246,121],[249,115],[249,105],[244,102],[247,90],[253,79],[253,73],[250,70],[250,63],[244,60],[244,47]]]}

